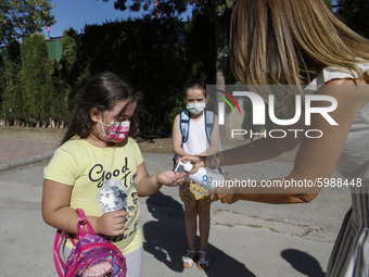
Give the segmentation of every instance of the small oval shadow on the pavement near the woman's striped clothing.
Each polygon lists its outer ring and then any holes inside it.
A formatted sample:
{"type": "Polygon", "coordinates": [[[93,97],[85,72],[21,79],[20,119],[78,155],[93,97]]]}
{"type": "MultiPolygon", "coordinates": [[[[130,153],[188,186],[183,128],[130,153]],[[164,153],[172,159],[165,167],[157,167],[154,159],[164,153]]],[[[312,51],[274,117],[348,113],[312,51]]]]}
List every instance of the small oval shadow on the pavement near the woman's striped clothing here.
{"type": "Polygon", "coordinates": [[[319,262],[311,255],[296,249],[287,249],[281,256],[297,272],[310,277],[325,277],[319,262]]]}

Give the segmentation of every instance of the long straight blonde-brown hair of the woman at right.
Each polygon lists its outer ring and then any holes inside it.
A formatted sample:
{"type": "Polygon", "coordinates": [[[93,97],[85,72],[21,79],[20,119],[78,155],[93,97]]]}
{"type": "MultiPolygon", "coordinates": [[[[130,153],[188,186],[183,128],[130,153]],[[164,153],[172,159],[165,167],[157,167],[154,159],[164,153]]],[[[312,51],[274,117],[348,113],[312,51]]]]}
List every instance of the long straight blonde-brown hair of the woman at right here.
{"type": "Polygon", "coordinates": [[[234,8],[231,63],[245,85],[306,85],[326,66],[362,78],[358,59],[369,61],[369,40],[321,0],[239,0],[234,8]]]}

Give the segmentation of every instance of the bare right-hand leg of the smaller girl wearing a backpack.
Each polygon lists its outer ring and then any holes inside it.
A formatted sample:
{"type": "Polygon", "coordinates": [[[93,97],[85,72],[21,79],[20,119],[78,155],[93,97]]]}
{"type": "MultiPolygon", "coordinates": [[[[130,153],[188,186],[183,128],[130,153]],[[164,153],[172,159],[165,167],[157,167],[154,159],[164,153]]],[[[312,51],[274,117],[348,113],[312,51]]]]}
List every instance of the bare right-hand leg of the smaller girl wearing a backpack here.
{"type": "Polygon", "coordinates": [[[198,201],[199,229],[200,229],[200,250],[207,250],[207,241],[211,231],[211,203],[198,201]]]}

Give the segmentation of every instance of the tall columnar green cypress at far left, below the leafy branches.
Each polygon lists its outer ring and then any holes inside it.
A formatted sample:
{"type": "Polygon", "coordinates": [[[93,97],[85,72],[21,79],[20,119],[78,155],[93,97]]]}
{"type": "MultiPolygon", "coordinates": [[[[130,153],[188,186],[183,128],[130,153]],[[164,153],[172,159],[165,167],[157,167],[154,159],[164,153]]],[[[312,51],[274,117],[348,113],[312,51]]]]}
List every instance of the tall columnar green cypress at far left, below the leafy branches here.
{"type": "Polygon", "coordinates": [[[23,39],[21,45],[22,56],[22,92],[23,112],[25,121],[30,124],[48,121],[50,63],[44,36],[30,35],[23,39]]]}

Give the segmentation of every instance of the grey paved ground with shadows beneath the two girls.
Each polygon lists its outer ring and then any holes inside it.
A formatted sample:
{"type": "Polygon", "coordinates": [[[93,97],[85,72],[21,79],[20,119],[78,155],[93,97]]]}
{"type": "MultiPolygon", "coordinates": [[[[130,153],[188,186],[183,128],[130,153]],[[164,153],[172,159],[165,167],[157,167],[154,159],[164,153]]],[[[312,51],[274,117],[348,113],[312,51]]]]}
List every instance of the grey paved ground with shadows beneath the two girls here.
{"type": "MultiPolygon", "coordinates": [[[[43,223],[40,205],[42,171],[48,164],[48,160],[41,160],[49,159],[59,143],[9,143],[0,139],[4,161],[0,164],[1,276],[56,277],[51,254],[55,229],[43,223]],[[41,162],[20,167],[37,161],[41,162]]],[[[171,167],[171,154],[143,156],[149,174],[171,167]]],[[[290,168],[287,163],[263,162],[226,169],[231,174],[241,172],[249,178],[266,178],[283,175],[290,168]]],[[[321,193],[311,203],[301,205],[213,203],[208,247],[212,267],[207,272],[195,267],[183,270],[179,262],[187,248],[183,205],[177,188],[164,187],[140,199],[142,277],[322,277],[349,203],[351,197],[345,193],[321,193]]]]}

